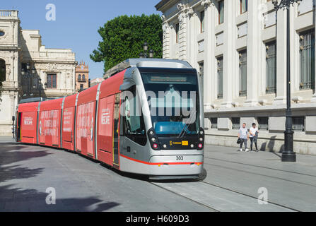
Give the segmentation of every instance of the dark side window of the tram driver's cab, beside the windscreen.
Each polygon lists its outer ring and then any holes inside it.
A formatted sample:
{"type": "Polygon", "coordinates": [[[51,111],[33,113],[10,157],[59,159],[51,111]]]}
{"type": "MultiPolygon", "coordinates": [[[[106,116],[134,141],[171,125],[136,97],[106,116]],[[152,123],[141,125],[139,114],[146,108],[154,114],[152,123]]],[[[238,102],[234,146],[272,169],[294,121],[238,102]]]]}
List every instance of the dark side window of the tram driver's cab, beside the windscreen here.
{"type": "Polygon", "coordinates": [[[124,92],[124,106],[123,118],[123,134],[131,141],[146,145],[146,129],[144,117],[141,112],[141,105],[139,105],[139,97],[136,97],[136,86],[134,85],[129,90],[124,92]]]}

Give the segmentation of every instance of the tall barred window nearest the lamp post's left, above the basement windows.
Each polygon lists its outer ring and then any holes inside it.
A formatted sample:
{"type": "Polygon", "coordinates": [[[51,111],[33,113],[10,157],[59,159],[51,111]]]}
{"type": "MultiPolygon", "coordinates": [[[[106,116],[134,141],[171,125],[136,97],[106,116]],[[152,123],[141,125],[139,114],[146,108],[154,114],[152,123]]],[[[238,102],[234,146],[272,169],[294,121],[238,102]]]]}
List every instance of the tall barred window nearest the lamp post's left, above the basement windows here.
{"type": "Polygon", "coordinates": [[[266,93],[276,93],[276,41],[266,45],[266,93]]]}

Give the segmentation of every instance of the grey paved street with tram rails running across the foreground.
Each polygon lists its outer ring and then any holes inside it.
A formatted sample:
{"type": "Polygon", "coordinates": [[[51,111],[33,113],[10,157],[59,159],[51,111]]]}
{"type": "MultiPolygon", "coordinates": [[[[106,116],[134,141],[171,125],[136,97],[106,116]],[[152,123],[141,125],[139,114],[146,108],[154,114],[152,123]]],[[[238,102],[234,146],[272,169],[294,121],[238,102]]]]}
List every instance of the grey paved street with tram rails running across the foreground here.
{"type": "Polygon", "coordinates": [[[0,138],[0,211],[315,211],[316,156],[206,145],[200,181],[148,182],[79,155],[0,138]],[[46,189],[56,191],[47,205],[46,189]],[[259,188],[268,204],[258,204],[259,188]]]}

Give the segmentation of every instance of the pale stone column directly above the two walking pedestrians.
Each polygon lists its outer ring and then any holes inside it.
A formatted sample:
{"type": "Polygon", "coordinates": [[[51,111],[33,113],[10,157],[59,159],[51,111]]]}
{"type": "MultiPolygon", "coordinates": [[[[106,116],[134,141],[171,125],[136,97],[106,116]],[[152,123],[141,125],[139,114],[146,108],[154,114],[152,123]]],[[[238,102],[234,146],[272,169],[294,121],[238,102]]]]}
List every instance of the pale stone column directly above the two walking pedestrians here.
{"type": "Polygon", "coordinates": [[[245,106],[256,106],[259,80],[262,78],[262,20],[258,16],[259,0],[248,1],[247,20],[247,100],[245,106]]]}

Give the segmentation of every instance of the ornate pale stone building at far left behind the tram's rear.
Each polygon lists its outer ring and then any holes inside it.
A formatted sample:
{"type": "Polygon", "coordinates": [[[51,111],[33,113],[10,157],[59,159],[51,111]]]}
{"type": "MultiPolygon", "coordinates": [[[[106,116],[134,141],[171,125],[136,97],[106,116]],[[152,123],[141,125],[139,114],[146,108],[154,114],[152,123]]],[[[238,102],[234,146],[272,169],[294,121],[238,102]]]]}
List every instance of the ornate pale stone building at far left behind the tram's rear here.
{"type": "Polygon", "coordinates": [[[75,93],[76,59],[71,49],[46,49],[39,30],[22,30],[18,11],[0,10],[0,135],[11,135],[22,99],[52,99],[75,93]]]}

